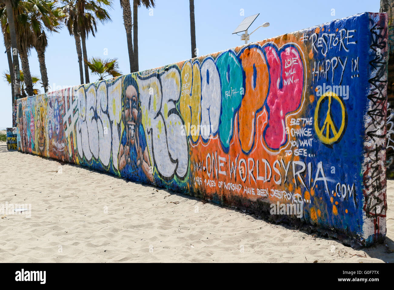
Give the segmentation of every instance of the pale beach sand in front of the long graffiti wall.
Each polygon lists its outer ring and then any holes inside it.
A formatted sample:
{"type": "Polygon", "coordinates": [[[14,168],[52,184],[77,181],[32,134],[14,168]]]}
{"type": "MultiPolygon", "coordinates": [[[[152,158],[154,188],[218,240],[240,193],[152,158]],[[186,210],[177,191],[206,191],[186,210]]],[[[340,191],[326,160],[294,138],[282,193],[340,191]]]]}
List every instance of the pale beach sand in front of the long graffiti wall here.
{"type": "Polygon", "coordinates": [[[333,238],[0,143],[1,262],[394,262],[394,182],[386,245],[355,250],[333,238]],[[2,215],[2,214],[1,214],[2,215]]]}

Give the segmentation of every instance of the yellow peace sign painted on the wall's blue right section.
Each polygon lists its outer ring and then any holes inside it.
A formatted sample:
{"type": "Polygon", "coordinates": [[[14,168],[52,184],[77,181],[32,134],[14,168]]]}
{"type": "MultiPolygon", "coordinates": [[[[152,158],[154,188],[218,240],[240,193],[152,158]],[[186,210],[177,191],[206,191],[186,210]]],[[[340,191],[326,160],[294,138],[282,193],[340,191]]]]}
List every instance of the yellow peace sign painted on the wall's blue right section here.
{"type": "Polygon", "coordinates": [[[316,109],[315,109],[315,131],[316,134],[318,135],[319,139],[324,143],[324,144],[333,144],[334,142],[338,141],[338,139],[342,136],[342,133],[345,128],[345,123],[346,123],[346,108],[345,105],[340,97],[336,95],[333,92],[327,92],[324,95],[320,97],[318,100],[318,103],[316,104],[316,109]],[[328,109],[327,109],[327,114],[325,116],[325,120],[323,123],[323,126],[319,128],[319,111],[320,111],[320,104],[322,101],[328,98],[328,109]],[[336,125],[331,118],[331,103],[332,101],[335,100],[339,103],[340,105],[340,110],[342,114],[342,120],[341,120],[341,125],[339,129],[336,129],[336,125]],[[337,131],[338,130],[338,131],[337,131]],[[324,133],[325,132],[325,133],[324,133]]]}

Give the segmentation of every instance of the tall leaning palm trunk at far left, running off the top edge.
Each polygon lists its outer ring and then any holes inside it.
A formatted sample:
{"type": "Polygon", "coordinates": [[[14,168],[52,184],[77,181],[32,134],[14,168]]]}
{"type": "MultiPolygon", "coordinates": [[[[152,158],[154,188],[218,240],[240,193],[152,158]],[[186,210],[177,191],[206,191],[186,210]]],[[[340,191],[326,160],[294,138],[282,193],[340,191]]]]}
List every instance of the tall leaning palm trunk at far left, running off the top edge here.
{"type": "MultiPolygon", "coordinates": [[[[7,11],[13,11],[11,0],[5,0],[7,11]]],[[[9,34],[11,38],[11,48],[12,48],[12,63],[14,71],[14,95],[12,96],[12,125],[16,126],[16,103],[15,100],[20,97],[20,74],[19,74],[19,59],[18,59],[18,48],[17,48],[17,34],[15,31],[15,23],[13,13],[7,13],[9,34]]],[[[11,72],[10,72],[11,73],[11,72]]]]}

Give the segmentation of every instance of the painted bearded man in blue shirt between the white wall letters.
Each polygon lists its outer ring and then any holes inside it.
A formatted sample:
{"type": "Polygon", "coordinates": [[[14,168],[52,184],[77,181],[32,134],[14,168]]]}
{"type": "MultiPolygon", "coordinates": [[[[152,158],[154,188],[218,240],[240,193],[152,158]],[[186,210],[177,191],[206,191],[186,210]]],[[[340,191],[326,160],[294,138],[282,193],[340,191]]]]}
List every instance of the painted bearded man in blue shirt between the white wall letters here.
{"type": "Polygon", "coordinates": [[[138,86],[131,76],[126,77],[124,82],[122,119],[125,129],[119,148],[119,170],[141,182],[153,183],[145,132],[141,124],[138,86]]]}

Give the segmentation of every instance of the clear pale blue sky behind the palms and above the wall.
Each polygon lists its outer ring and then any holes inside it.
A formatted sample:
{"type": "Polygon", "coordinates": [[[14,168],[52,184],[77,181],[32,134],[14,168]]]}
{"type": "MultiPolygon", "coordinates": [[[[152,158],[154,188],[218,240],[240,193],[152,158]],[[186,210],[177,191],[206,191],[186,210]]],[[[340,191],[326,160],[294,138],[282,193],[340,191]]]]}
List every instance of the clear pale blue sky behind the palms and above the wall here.
{"type": "MultiPolygon", "coordinates": [[[[112,0],[112,22],[98,25],[96,37],[87,39],[88,57],[118,58],[123,74],[130,73],[122,9],[118,0],[112,0]],[[104,55],[108,51],[108,55],[104,55]]],[[[130,2],[132,2],[130,0],[130,2]]],[[[270,26],[259,28],[251,41],[258,41],[288,32],[315,26],[333,19],[362,12],[379,12],[379,0],[195,0],[196,43],[199,55],[205,55],[242,45],[240,36],[231,33],[244,17],[260,13],[249,33],[264,22],[270,26]],[[241,15],[242,10],[244,15],[241,15]],[[332,16],[335,9],[335,16],[332,16]]],[[[151,11],[138,10],[139,70],[160,67],[191,58],[190,19],[188,0],[156,0],[151,11]],[[153,15],[149,15],[153,14],[153,15]]],[[[0,40],[0,129],[11,127],[11,87],[4,81],[8,70],[7,55],[0,40]]],[[[29,57],[30,71],[40,76],[37,53],[29,57]]],[[[78,58],[74,38],[63,27],[59,33],[48,36],[46,67],[49,84],[74,86],[80,83],[78,58]]],[[[97,80],[90,74],[90,81],[97,80]]],[[[41,88],[42,89],[42,88],[41,88]]]]}

